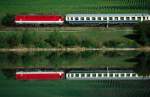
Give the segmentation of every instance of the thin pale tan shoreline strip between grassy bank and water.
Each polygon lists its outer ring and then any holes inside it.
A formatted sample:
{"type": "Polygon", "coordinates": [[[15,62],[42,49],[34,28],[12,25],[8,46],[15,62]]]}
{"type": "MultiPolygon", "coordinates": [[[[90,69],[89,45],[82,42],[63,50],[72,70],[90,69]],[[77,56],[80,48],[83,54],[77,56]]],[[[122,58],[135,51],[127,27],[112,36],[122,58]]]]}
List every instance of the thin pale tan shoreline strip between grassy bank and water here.
{"type": "Polygon", "coordinates": [[[31,51],[67,51],[67,52],[82,52],[82,51],[143,51],[150,52],[150,47],[140,48],[84,48],[84,47],[73,47],[73,48],[0,48],[0,52],[31,52],[31,51]]]}

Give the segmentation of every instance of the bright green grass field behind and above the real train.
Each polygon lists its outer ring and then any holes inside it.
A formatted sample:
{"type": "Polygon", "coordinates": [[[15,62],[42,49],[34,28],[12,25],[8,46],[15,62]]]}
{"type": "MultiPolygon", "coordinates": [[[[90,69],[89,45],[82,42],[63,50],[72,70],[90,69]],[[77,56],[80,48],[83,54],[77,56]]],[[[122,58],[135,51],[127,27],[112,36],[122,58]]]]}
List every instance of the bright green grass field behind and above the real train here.
{"type": "Polygon", "coordinates": [[[0,17],[6,13],[147,13],[150,0],[0,0],[0,17]]]}

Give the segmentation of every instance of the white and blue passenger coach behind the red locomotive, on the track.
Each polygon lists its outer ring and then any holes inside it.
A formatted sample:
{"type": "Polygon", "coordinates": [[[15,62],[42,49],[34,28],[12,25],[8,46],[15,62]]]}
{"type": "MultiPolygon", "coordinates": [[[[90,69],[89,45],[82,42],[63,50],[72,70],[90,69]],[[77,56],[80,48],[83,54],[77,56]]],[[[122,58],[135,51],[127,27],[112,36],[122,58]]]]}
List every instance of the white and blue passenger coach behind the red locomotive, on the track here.
{"type": "Polygon", "coordinates": [[[67,14],[69,24],[134,24],[150,20],[149,14],[67,14]]]}

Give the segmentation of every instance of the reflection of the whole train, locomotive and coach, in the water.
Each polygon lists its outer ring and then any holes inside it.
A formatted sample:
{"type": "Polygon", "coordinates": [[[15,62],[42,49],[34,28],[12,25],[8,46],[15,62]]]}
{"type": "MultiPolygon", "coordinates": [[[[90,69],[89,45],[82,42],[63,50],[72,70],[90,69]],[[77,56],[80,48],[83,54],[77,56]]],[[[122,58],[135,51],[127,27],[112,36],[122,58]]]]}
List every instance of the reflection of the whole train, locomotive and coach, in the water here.
{"type": "Polygon", "coordinates": [[[51,70],[41,68],[17,68],[17,80],[140,80],[150,76],[140,76],[133,70],[51,70]]]}

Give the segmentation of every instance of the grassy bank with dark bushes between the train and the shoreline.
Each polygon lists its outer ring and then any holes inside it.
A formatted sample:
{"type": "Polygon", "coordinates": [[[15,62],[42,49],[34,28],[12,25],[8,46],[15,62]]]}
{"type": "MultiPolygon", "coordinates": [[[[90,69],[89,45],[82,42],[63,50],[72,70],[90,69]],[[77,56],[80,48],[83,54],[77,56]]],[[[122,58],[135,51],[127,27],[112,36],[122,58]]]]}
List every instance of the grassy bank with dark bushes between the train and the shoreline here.
{"type": "MultiPolygon", "coordinates": [[[[74,28],[75,29],[75,28],[74,28]]],[[[132,28],[88,28],[82,31],[17,31],[0,32],[0,48],[63,48],[63,47],[137,47],[125,38],[132,28]],[[111,36],[111,37],[109,37],[111,36]]]]}

